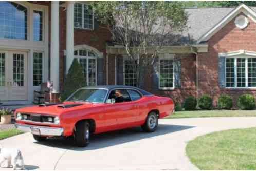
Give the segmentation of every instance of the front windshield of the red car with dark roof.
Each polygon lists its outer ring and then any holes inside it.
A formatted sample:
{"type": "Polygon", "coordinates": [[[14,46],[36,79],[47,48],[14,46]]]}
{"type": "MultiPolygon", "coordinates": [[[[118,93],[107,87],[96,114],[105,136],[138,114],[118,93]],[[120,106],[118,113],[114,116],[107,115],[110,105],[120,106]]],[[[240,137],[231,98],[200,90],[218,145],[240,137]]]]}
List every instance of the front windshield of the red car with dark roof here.
{"type": "Polygon", "coordinates": [[[107,90],[105,89],[80,89],[66,101],[103,103],[107,90]]]}

